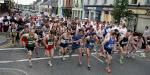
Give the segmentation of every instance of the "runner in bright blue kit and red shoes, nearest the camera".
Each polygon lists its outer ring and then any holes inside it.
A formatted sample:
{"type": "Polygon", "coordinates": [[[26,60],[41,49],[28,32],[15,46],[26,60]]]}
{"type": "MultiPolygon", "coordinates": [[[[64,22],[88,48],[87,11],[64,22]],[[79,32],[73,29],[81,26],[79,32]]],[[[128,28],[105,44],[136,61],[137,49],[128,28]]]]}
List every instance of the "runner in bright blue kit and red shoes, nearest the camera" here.
{"type": "Polygon", "coordinates": [[[106,55],[105,59],[106,59],[106,64],[107,64],[106,71],[108,73],[111,73],[112,71],[111,61],[112,61],[112,50],[115,44],[115,35],[116,33],[114,31],[110,31],[110,35],[106,36],[102,43],[102,46],[104,47],[104,50],[106,51],[105,52],[105,55],[106,55]]]}

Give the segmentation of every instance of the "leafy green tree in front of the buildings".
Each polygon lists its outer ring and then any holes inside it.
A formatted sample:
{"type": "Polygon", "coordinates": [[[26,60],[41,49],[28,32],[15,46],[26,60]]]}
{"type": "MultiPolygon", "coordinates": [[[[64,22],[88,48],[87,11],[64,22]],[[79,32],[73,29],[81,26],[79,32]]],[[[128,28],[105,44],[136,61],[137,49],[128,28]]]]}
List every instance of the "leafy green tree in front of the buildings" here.
{"type": "Polygon", "coordinates": [[[115,21],[120,23],[120,19],[128,17],[128,13],[128,0],[116,0],[112,11],[112,16],[115,21]]]}

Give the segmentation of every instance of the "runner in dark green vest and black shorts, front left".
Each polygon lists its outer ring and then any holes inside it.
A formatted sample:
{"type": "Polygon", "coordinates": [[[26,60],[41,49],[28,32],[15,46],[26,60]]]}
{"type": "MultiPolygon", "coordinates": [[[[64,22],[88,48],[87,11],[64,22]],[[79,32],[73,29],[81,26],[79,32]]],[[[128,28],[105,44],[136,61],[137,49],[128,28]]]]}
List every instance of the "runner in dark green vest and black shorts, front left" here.
{"type": "Polygon", "coordinates": [[[32,67],[32,52],[34,51],[35,45],[37,45],[37,35],[34,33],[34,30],[31,30],[29,34],[23,34],[20,38],[20,41],[22,38],[27,38],[26,48],[28,50],[27,58],[29,60],[29,66],[32,67]]]}

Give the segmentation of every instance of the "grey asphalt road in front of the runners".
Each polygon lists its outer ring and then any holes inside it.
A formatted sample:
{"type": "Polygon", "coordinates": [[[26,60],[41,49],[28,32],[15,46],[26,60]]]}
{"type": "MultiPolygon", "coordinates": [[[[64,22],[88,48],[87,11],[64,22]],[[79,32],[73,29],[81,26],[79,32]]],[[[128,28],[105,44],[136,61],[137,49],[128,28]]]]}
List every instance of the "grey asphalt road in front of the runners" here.
{"type": "Polygon", "coordinates": [[[111,74],[105,72],[105,64],[102,64],[93,54],[90,71],[87,70],[85,56],[82,61],[83,65],[79,67],[76,54],[62,61],[55,53],[53,67],[49,67],[43,50],[40,50],[39,58],[34,54],[33,67],[29,68],[24,49],[0,50],[0,75],[150,75],[150,62],[140,58],[128,58],[126,63],[121,65],[118,62],[118,55],[114,54],[111,74]]]}

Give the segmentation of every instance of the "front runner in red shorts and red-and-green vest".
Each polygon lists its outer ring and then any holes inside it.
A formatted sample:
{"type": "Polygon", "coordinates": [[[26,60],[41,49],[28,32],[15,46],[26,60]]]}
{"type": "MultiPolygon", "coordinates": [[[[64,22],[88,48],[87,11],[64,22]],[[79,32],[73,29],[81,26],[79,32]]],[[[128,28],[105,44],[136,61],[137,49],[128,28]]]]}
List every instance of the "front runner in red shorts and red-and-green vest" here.
{"type": "Polygon", "coordinates": [[[55,48],[55,37],[53,35],[53,32],[50,31],[50,33],[44,37],[43,39],[43,43],[45,45],[45,55],[47,57],[49,57],[49,61],[48,61],[48,64],[50,67],[52,67],[52,58],[53,58],[53,55],[54,55],[54,48],[55,48]]]}

